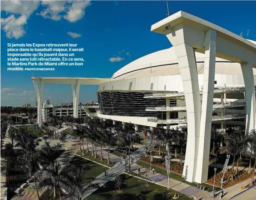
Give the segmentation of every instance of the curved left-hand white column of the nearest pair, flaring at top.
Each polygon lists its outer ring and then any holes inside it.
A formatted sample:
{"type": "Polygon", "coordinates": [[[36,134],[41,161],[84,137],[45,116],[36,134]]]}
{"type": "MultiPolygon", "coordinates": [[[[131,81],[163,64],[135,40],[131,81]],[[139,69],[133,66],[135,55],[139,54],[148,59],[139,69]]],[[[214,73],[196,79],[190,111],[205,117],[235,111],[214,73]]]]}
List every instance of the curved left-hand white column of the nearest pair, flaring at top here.
{"type": "Polygon", "coordinates": [[[173,44],[179,63],[187,112],[188,133],[183,176],[186,175],[187,171],[186,180],[188,182],[194,182],[197,168],[201,118],[201,100],[196,60],[193,47],[189,42],[189,28],[182,25],[175,32],[170,31],[166,36],[173,44]]]}

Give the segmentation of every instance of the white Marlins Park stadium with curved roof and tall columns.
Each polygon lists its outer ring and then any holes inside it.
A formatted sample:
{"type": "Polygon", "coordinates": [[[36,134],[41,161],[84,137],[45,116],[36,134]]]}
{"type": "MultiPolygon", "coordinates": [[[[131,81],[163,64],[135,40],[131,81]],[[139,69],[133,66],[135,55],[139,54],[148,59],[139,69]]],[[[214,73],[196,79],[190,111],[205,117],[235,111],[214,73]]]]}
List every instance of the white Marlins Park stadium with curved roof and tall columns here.
{"type": "MultiPolygon", "coordinates": [[[[151,26],[173,47],[141,57],[111,79],[33,77],[40,106],[43,85],[68,84],[78,116],[80,85],[99,85],[97,116],[143,127],[187,125],[183,176],[207,180],[211,126],[256,125],[256,42],[177,12],[151,26]],[[38,86],[40,86],[38,88],[38,86]]],[[[38,122],[41,120],[38,109],[38,122]]]]}

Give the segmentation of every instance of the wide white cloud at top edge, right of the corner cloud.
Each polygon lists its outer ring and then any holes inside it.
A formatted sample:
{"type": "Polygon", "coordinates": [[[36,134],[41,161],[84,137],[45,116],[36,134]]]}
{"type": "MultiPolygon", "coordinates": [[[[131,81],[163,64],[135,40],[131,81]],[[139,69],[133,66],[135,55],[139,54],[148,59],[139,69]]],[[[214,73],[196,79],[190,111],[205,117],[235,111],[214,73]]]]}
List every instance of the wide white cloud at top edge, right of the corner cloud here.
{"type": "Polygon", "coordinates": [[[90,1],[42,0],[41,4],[46,8],[37,15],[55,21],[63,17],[69,22],[76,22],[84,16],[84,10],[90,5],[90,1]]]}

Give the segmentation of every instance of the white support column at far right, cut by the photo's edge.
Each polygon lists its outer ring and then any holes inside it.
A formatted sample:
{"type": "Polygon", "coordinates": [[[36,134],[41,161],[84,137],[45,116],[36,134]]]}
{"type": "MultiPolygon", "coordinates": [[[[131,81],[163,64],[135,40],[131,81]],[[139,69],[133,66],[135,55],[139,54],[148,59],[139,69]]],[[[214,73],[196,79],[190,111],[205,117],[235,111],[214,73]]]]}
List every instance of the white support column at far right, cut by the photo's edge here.
{"type": "Polygon", "coordinates": [[[246,129],[248,134],[256,128],[256,99],[254,73],[252,63],[241,64],[244,82],[245,82],[245,99],[246,99],[246,129]]]}

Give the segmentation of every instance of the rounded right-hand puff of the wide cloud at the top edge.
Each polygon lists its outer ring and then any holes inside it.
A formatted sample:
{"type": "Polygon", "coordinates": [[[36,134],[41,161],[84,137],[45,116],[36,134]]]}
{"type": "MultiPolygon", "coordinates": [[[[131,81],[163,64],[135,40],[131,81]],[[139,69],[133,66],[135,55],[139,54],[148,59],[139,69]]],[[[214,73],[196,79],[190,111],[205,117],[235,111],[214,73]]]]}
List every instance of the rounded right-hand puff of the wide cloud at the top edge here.
{"type": "Polygon", "coordinates": [[[90,1],[74,1],[72,6],[68,7],[67,15],[64,16],[64,19],[69,22],[76,22],[80,20],[84,15],[84,9],[90,5],[90,1]]]}

